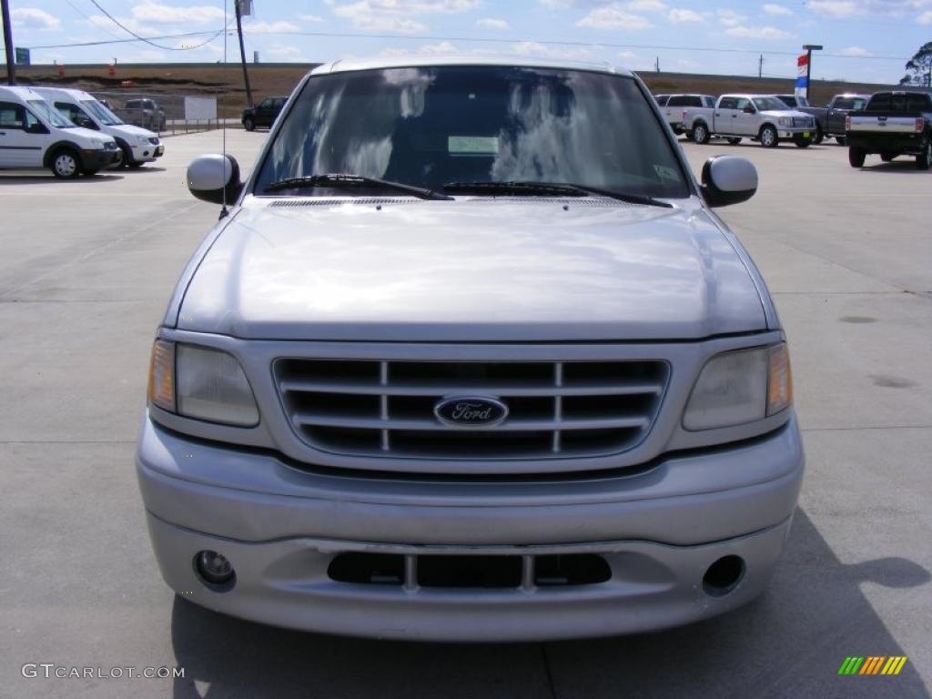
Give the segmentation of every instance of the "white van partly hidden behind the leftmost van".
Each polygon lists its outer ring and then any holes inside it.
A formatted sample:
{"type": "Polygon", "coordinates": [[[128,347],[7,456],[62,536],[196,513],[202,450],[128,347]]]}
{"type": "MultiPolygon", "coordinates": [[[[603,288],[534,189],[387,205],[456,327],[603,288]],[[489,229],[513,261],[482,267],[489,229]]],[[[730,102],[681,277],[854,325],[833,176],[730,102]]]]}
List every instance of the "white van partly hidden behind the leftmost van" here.
{"type": "Polygon", "coordinates": [[[33,89],[78,126],[113,136],[123,151],[123,163],[130,168],[141,168],[145,163],[161,158],[165,152],[158,133],[124,123],[88,92],[64,88],[33,89]]]}

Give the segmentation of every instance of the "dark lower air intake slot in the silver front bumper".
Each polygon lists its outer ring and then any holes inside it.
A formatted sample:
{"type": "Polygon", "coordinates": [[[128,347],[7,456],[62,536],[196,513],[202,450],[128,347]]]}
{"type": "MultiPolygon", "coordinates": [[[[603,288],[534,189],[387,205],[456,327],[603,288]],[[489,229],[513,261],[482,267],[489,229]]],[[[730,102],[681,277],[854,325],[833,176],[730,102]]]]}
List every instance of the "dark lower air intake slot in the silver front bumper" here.
{"type": "Polygon", "coordinates": [[[562,587],[607,583],[611,569],[597,554],[334,556],[327,577],[336,583],[394,585],[408,589],[562,587]]]}

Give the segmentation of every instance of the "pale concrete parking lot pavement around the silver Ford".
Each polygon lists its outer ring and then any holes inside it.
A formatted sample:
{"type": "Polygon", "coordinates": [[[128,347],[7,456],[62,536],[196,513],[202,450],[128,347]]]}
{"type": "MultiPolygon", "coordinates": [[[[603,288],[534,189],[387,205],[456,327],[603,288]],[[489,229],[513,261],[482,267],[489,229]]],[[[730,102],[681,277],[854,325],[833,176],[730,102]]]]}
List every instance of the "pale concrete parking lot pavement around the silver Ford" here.
{"type": "MultiPolygon", "coordinates": [[[[758,196],[721,210],[787,328],[808,454],[769,591],[648,636],[519,645],[322,637],[171,594],[132,467],[153,332],[217,208],[172,138],[142,171],[0,172],[0,695],[11,697],[927,697],[932,678],[932,174],[855,171],[844,148],[684,144],[751,158],[758,196]],[[838,677],[848,655],[897,677],[838,677]],[[21,666],[168,665],[181,679],[23,678],[21,666]]],[[[230,131],[248,169],[262,133],[230,131]]],[[[110,673],[112,674],[112,673],[110,673]]]]}

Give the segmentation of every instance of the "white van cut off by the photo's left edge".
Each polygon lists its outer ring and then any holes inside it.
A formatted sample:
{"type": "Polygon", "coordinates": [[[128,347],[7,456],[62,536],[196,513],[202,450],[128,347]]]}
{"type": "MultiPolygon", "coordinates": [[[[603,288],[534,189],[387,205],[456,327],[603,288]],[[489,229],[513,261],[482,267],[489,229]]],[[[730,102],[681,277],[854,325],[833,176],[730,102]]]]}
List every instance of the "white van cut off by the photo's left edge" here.
{"type": "Polygon", "coordinates": [[[0,169],[93,175],[122,158],[112,136],[82,129],[29,88],[0,87],[0,169]]]}

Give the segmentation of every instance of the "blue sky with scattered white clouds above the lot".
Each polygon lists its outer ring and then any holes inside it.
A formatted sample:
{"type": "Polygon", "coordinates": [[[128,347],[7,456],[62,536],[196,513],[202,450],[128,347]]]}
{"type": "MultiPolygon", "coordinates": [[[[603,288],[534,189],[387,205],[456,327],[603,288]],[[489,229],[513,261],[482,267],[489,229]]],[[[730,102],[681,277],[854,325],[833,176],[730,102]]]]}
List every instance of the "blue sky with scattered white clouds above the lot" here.
{"type": "MultiPolygon", "coordinates": [[[[96,0],[144,36],[216,32],[223,0],[96,0]]],[[[232,0],[227,0],[232,16],[232,0]]],[[[128,38],[94,0],[10,0],[17,46],[128,38]]],[[[250,57],[322,62],[398,53],[496,52],[613,62],[648,70],[795,76],[804,43],[822,44],[816,78],[897,81],[932,40],[932,0],[254,0],[245,22],[250,57]],[[331,35],[328,35],[331,34],[331,35]],[[340,34],[340,35],[333,35],[340,34]],[[562,43],[561,43],[562,42],[562,43]]],[[[215,62],[210,34],[85,48],[35,48],[34,62],[215,62]]],[[[235,36],[227,56],[237,59],[235,36]]]]}

